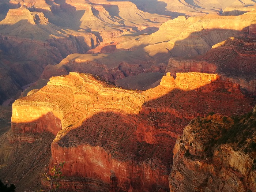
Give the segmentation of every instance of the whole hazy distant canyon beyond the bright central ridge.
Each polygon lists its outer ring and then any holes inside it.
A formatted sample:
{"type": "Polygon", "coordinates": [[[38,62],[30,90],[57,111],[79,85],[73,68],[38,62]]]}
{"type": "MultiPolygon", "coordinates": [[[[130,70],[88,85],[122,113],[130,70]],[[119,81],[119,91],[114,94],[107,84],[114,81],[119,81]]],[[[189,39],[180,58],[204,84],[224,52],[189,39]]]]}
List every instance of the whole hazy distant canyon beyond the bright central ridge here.
{"type": "Polygon", "coordinates": [[[38,78],[71,71],[93,73],[113,83],[140,73],[163,73],[170,56],[203,54],[229,37],[245,36],[248,27],[253,34],[253,1],[246,7],[229,1],[214,5],[216,10],[202,2],[196,7],[179,1],[144,3],[1,1],[1,82],[7,82],[0,86],[1,102],[18,97],[22,86],[38,78]],[[241,8],[244,14],[220,15],[228,7],[241,8]],[[111,56],[115,64],[104,59],[111,56]]]}

